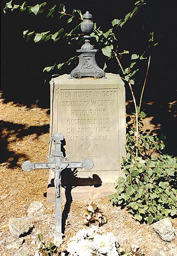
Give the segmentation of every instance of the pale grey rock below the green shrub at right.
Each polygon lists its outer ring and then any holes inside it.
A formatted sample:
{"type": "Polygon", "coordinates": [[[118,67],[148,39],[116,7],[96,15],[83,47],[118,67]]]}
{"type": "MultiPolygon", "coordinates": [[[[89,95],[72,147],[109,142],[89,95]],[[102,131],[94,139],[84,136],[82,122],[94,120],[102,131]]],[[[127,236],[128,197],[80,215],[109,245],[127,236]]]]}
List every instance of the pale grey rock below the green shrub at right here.
{"type": "Polygon", "coordinates": [[[152,224],[155,232],[160,236],[163,241],[172,241],[175,237],[174,227],[168,218],[164,218],[152,224]]]}

